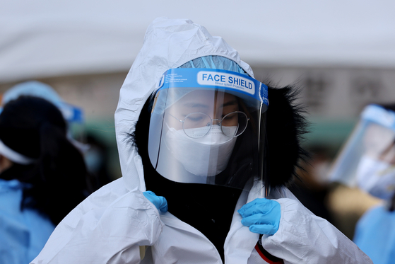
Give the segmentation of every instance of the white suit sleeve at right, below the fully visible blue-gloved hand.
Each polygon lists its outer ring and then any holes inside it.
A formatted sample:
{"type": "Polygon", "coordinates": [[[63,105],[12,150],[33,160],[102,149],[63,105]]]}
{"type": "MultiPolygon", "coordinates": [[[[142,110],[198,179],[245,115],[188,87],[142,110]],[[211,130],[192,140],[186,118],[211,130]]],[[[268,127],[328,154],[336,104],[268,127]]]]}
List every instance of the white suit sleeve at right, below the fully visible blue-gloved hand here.
{"type": "Polygon", "coordinates": [[[280,227],[264,235],[263,248],[288,263],[372,263],[358,246],[325,219],[289,198],[281,204],[280,227]]]}

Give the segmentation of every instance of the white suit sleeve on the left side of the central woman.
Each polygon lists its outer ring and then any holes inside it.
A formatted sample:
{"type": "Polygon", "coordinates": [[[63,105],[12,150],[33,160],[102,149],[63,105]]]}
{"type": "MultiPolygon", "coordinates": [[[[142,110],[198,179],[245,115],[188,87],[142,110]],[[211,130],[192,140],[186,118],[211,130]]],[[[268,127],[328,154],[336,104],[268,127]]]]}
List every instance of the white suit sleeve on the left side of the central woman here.
{"type": "Polygon", "coordinates": [[[139,190],[115,199],[94,194],[57,226],[32,264],[140,263],[140,246],[155,243],[162,229],[158,210],[139,190]]]}

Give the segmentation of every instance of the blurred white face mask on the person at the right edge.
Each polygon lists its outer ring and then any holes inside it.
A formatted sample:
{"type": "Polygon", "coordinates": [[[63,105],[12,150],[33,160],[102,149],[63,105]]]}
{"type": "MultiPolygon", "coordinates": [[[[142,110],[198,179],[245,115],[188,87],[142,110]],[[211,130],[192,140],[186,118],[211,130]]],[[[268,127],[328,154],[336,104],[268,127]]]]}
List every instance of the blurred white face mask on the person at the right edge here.
{"type": "Polygon", "coordinates": [[[388,200],[395,192],[395,167],[391,164],[362,156],[357,168],[358,187],[375,197],[388,200]]]}

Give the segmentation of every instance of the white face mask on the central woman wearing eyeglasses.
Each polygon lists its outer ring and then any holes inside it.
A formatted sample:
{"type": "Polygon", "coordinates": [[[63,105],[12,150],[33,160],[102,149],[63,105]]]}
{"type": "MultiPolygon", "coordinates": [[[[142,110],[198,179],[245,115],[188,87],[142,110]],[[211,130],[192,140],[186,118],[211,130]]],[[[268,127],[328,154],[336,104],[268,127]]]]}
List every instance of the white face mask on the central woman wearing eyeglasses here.
{"type": "MultiPolygon", "coordinates": [[[[237,130],[237,127],[226,128],[235,132],[237,130]]],[[[210,177],[225,170],[236,139],[225,136],[220,126],[213,125],[204,137],[197,139],[188,137],[184,130],[169,127],[165,142],[175,159],[182,163],[187,171],[196,176],[210,177]]]]}

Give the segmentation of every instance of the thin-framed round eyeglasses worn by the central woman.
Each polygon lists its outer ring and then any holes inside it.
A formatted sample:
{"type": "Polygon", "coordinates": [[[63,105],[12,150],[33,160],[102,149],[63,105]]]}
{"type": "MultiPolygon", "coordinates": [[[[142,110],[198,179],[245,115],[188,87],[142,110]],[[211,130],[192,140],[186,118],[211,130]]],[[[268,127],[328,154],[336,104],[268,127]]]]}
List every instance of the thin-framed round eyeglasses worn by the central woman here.
{"type": "MultiPolygon", "coordinates": [[[[171,115],[171,114],[169,114],[171,115]]],[[[179,120],[171,115],[179,122],[182,122],[182,129],[185,134],[191,138],[204,137],[213,126],[213,122],[218,122],[221,131],[227,137],[238,137],[247,128],[249,118],[244,112],[235,111],[228,113],[221,119],[211,119],[205,113],[190,113],[184,120],[179,120]]]]}

